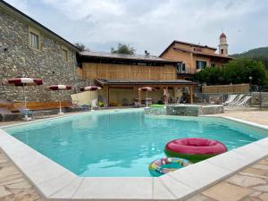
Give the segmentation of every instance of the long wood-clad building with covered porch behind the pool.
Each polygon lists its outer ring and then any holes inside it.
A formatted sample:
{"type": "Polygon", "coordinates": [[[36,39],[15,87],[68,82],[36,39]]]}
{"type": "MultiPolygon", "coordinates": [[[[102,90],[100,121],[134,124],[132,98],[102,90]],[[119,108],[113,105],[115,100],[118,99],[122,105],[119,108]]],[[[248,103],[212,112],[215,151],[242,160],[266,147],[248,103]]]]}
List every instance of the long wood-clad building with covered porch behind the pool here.
{"type": "Polygon", "coordinates": [[[195,83],[177,79],[176,66],[180,61],[170,61],[151,55],[107,54],[80,52],[77,75],[81,79],[94,80],[101,86],[102,96],[108,105],[134,105],[138,99],[145,99],[145,93],[138,92],[141,87],[153,87],[149,92],[153,102],[163,100],[163,95],[170,101],[180,98],[184,92],[188,102],[193,101],[195,83]]]}

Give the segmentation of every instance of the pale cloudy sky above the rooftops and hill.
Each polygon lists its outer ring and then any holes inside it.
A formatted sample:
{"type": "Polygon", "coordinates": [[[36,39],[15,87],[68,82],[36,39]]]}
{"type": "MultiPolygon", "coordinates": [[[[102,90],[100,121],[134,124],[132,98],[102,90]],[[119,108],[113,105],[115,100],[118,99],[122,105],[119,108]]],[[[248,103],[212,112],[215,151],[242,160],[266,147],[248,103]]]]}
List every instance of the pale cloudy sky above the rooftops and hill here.
{"type": "Polygon", "coordinates": [[[159,55],[173,40],[229,53],[268,46],[268,0],[5,0],[71,43],[110,52],[118,43],[159,55]]]}

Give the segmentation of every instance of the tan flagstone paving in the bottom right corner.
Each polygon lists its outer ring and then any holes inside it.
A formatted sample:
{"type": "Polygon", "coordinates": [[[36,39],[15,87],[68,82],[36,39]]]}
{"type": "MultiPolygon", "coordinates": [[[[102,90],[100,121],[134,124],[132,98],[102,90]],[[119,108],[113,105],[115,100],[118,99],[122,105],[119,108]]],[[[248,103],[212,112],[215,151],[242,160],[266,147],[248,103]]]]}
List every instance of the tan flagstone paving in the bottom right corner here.
{"type": "Polygon", "coordinates": [[[268,201],[268,157],[187,201],[268,201]]]}

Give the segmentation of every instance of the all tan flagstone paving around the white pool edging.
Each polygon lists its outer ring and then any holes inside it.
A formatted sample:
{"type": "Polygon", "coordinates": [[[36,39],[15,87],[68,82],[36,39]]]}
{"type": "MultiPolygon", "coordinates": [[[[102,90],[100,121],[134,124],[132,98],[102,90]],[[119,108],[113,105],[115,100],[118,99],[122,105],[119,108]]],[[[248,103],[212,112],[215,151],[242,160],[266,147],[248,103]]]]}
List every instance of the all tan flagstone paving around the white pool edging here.
{"type": "MultiPolygon", "coordinates": [[[[268,111],[228,111],[221,115],[268,125],[268,111]]],[[[0,123],[0,126],[13,123],[4,122],[0,123]]],[[[0,201],[44,201],[2,151],[0,201]]],[[[187,201],[268,201],[268,157],[188,198],[187,201]]]]}

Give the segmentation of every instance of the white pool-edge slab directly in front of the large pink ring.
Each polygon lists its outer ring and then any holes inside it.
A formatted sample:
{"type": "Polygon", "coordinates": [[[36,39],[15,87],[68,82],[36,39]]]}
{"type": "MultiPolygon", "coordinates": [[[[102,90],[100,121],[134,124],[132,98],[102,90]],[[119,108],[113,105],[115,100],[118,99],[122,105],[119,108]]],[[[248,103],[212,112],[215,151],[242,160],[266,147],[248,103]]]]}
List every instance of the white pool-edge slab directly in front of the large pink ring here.
{"type": "Polygon", "coordinates": [[[222,169],[213,163],[202,161],[178,171],[168,173],[167,176],[171,176],[188,187],[200,190],[224,179],[230,173],[230,170],[222,169]]]}

